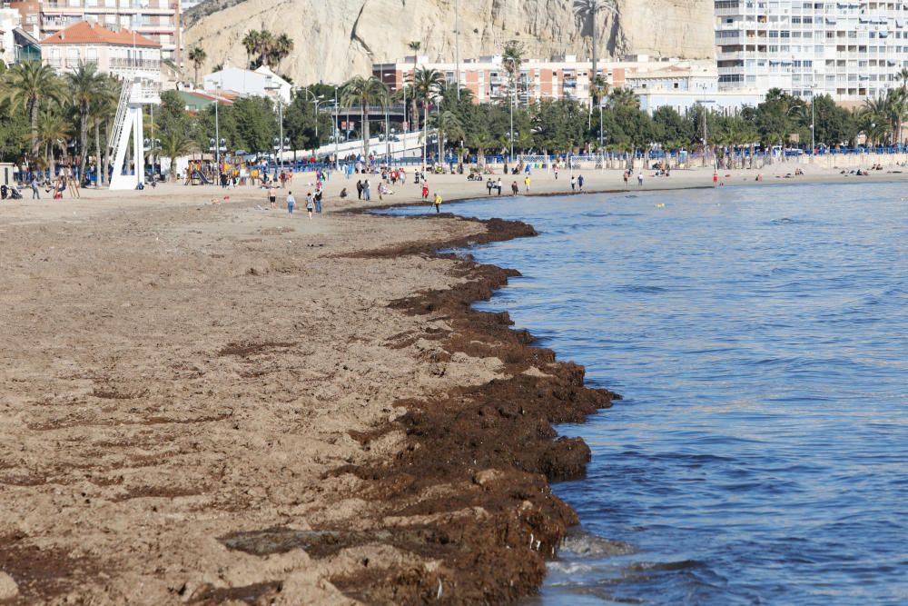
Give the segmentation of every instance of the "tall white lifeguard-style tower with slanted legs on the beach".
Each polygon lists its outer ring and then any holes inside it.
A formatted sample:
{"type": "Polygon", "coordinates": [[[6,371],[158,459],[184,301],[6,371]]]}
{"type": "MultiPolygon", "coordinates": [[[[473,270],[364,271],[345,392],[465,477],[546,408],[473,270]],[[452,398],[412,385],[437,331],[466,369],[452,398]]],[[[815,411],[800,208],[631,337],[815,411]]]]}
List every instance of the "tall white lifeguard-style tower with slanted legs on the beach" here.
{"type": "Polygon", "coordinates": [[[161,104],[157,86],[136,78],[123,82],[120,103],[117,105],[114,129],[111,131],[108,148],[114,150],[114,172],[111,174],[110,189],[131,190],[145,183],[145,147],[143,134],[143,106],[161,104]],[[130,138],[133,140],[133,165],[130,171],[126,164],[126,150],[130,138]]]}

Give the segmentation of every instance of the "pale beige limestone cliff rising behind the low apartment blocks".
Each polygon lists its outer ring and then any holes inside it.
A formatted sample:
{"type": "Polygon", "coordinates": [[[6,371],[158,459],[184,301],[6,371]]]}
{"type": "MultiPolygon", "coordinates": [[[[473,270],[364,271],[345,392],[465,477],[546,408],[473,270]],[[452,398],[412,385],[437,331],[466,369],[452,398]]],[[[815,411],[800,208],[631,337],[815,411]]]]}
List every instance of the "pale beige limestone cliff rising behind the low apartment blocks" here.
{"type": "MultiPolygon", "coordinates": [[[[573,0],[459,0],[460,56],[497,55],[519,40],[527,57],[591,55],[592,27],[573,0]]],[[[412,55],[454,61],[454,0],[207,0],[187,15],[186,48],[202,46],[203,71],[248,62],[252,29],[287,34],[295,50],[280,66],[296,84],[369,75],[372,63],[412,55]]],[[[599,56],[627,53],[715,56],[712,0],[617,0],[617,15],[597,17],[599,56]]]]}

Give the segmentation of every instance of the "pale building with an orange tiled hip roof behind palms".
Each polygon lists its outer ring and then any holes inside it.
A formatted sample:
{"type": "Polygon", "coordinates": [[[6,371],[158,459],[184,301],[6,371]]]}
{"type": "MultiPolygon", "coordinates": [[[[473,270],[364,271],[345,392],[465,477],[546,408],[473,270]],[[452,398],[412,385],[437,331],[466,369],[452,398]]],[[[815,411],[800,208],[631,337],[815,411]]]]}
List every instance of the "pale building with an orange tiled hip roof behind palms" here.
{"type": "Polygon", "coordinates": [[[150,88],[161,84],[161,45],[136,32],[111,31],[82,21],[41,41],[42,61],[57,73],[73,72],[78,65],[97,65],[98,71],[150,88]]]}

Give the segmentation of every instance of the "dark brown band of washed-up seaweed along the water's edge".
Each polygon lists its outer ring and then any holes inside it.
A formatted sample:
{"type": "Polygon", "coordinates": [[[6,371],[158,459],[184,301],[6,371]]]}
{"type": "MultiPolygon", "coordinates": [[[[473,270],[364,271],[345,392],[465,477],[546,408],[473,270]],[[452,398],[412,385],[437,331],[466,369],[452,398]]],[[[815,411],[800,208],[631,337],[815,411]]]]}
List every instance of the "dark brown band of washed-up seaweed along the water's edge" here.
{"type": "MultiPolygon", "coordinates": [[[[469,254],[474,245],[537,235],[531,226],[519,222],[460,220],[484,224],[487,231],[367,254],[456,258],[438,251],[458,248],[469,254]]],[[[467,282],[417,293],[391,302],[390,308],[416,316],[440,315],[450,324],[447,338],[439,333],[423,335],[437,339],[442,349],[431,354],[432,363],[459,354],[493,357],[505,363],[509,376],[481,386],[458,387],[439,400],[401,402],[408,413],[400,420],[358,436],[368,445],[390,432],[406,433],[406,448],[394,461],[339,472],[352,472],[378,486],[392,515],[430,516],[431,541],[444,545],[438,556],[454,572],[335,581],[341,591],[367,603],[425,601],[440,597],[446,587],[455,588],[449,597],[455,603],[500,603],[535,595],[546,574],[545,561],[556,557],[568,529],[579,523],[573,508],[551,492],[549,482],[584,477],[590,460],[581,438],[557,437],[552,425],[585,422],[588,415],[620,399],[617,393],[585,385],[582,366],[558,362],[553,351],[533,345],[532,334],[513,329],[507,312],[472,309],[473,303],[488,301],[518,272],[477,263],[469,256],[459,258],[453,271],[467,282]],[[427,457],[430,462],[425,461],[427,457]],[[459,491],[437,502],[419,498],[420,492],[449,484],[459,484],[459,491]],[[458,515],[452,507],[480,508],[484,514],[458,515]],[[479,562],[484,566],[477,566],[479,562]]],[[[419,335],[406,339],[414,341],[419,335]]],[[[395,544],[421,551],[425,548],[421,541],[420,536],[395,544]]]]}

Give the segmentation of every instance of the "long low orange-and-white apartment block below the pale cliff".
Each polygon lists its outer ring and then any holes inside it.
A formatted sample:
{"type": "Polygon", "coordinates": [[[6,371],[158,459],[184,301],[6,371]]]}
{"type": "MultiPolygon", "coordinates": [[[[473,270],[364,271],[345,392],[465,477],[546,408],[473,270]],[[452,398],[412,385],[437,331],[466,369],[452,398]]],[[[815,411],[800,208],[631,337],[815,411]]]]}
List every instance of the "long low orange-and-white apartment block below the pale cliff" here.
{"type": "MultiPolygon", "coordinates": [[[[372,75],[388,84],[392,91],[409,82],[416,69],[438,70],[449,83],[458,80],[458,65],[429,62],[425,56],[410,56],[392,63],[372,65],[372,75]]],[[[711,61],[654,59],[631,55],[622,61],[597,64],[598,74],[609,88],[667,87],[694,91],[716,87],[716,64],[711,61]]],[[[552,99],[577,99],[589,103],[589,61],[576,56],[553,57],[549,60],[525,59],[520,68],[518,101],[521,103],[552,99]]],[[[467,59],[460,64],[460,84],[469,88],[474,103],[495,103],[508,96],[509,80],[501,55],[467,59]]]]}

